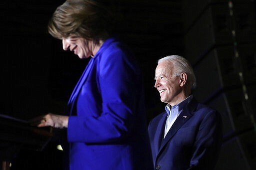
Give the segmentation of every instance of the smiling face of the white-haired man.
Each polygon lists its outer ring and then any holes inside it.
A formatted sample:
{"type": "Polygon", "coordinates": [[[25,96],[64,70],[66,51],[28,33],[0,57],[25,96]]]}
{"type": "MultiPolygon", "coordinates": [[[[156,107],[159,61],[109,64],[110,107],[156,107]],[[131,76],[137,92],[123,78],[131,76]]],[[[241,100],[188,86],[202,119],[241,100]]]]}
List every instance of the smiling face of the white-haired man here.
{"type": "Polygon", "coordinates": [[[180,77],[174,75],[172,62],[162,61],[157,65],[154,87],[160,93],[161,102],[171,106],[179,103],[182,88],[180,87],[180,77]]]}

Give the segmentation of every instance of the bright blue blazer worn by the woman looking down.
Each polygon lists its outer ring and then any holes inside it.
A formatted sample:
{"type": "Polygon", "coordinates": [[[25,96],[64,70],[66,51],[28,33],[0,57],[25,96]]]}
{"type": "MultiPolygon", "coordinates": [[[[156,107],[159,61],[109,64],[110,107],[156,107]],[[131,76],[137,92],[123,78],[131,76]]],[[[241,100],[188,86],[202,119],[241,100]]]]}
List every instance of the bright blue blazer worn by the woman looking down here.
{"type": "Polygon", "coordinates": [[[130,51],[107,39],[69,102],[70,170],[150,170],[142,78],[130,51]]]}

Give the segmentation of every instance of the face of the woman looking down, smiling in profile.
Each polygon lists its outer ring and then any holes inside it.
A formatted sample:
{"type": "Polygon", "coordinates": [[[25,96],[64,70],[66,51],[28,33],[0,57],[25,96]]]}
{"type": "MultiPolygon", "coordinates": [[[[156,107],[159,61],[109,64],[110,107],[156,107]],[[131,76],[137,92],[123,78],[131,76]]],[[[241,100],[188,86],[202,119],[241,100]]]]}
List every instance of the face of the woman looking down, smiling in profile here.
{"type": "Polygon", "coordinates": [[[73,51],[79,58],[88,58],[92,55],[90,41],[78,36],[62,38],[63,50],[73,51]]]}

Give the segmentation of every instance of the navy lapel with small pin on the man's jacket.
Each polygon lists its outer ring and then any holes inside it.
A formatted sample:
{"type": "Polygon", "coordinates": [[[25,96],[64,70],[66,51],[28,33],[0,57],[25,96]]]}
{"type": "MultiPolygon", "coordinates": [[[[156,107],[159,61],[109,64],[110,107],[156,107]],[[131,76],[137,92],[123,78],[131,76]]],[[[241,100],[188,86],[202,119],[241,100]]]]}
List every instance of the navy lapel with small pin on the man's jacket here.
{"type": "MultiPolygon", "coordinates": [[[[173,135],[178,131],[178,129],[193,115],[193,111],[197,106],[197,102],[192,99],[185,107],[182,112],[179,114],[173,125],[171,126],[170,130],[166,134],[165,138],[163,139],[161,146],[159,148],[159,152],[162,148],[167,144],[167,142],[173,137],[173,135]]],[[[159,153],[158,152],[158,153],[159,153]]]]}

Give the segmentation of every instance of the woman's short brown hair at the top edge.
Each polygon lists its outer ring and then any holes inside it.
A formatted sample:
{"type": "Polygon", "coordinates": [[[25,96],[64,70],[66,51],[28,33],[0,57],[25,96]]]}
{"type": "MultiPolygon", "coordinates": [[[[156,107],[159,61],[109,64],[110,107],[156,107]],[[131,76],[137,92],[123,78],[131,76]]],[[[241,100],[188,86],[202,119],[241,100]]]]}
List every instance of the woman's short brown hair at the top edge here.
{"type": "Polygon", "coordinates": [[[111,26],[111,14],[95,0],[66,0],[48,23],[48,32],[57,39],[79,36],[98,43],[111,26]]]}

